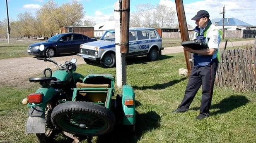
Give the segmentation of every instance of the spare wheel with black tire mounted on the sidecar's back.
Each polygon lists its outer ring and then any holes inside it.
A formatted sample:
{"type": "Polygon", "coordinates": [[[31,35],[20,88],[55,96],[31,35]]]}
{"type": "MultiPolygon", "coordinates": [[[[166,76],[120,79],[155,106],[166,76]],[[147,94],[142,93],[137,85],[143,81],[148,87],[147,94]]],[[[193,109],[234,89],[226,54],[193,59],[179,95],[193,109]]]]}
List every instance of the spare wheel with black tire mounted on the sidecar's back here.
{"type": "Polygon", "coordinates": [[[115,126],[115,116],[107,108],[89,102],[67,102],[56,106],[51,121],[71,134],[101,136],[115,126]]]}

